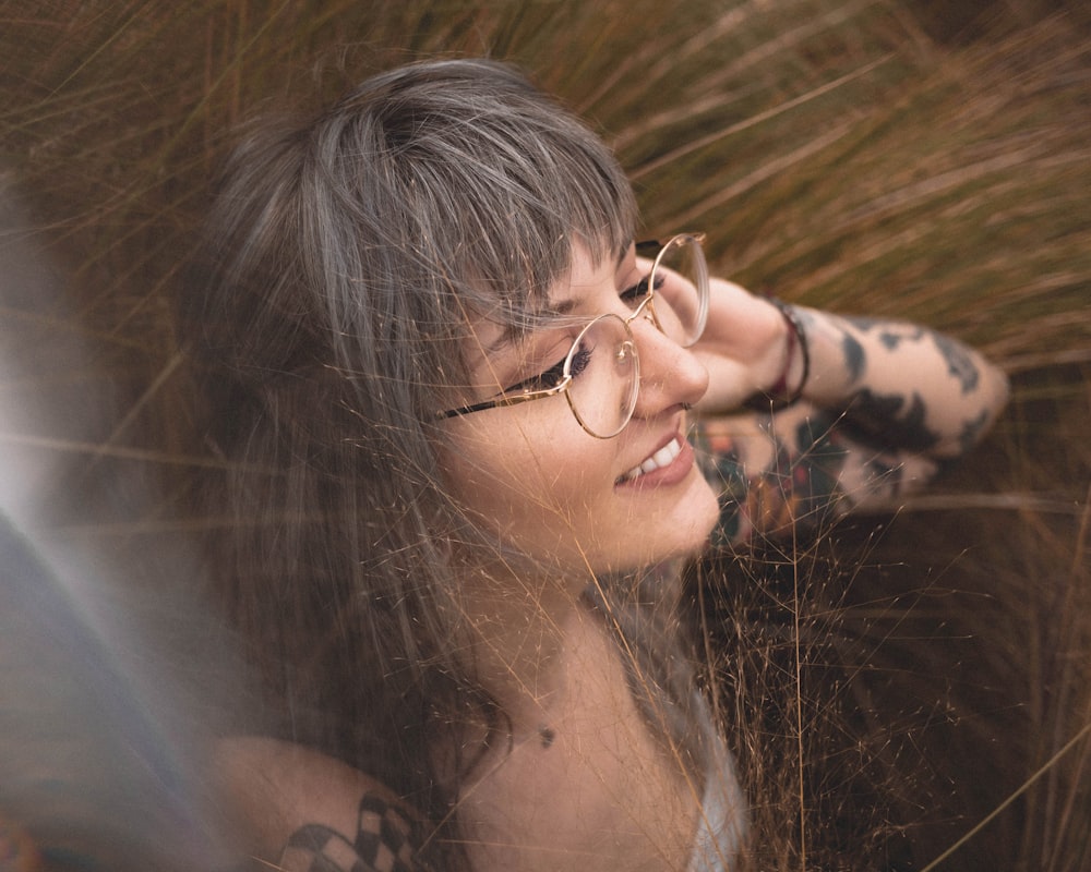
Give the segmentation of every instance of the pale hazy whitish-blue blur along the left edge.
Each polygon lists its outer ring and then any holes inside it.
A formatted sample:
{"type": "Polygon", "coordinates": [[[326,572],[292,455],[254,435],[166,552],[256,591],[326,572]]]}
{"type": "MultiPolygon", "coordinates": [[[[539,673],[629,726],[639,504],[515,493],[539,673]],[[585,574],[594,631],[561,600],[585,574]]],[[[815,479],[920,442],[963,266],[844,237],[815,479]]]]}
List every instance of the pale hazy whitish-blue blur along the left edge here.
{"type": "MultiPolygon", "coordinates": [[[[224,868],[204,760],[230,649],[180,588],[183,548],[116,553],[50,512],[91,469],[109,397],[79,375],[92,347],[64,329],[14,202],[0,215],[0,870],[224,868]]],[[[115,479],[104,496],[141,487],[115,479]]]]}

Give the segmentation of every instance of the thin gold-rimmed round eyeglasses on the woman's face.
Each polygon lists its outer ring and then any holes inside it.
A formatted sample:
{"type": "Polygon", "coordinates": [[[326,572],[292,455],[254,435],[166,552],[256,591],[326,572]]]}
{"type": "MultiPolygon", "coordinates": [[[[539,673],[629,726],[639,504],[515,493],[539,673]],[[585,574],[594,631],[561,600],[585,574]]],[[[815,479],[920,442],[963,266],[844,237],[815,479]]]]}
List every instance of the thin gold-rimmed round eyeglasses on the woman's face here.
{"type": "Polygon", "coordinates": [[[708,319],[708,266],[704,233],[681,233],[667,242],[638,242],[636,252],[655,261],[648,275],[621,294],[633,306],[627,318],[609,313],[589,322],[555,366],[483,402],[440,412],[440,419],[517,405],[563,393],[579,425],[598,439],[621,433],[633,417],[640,389],[640,359],[630,326],[644,315],[682,348],[690,348],[708,319]]]}

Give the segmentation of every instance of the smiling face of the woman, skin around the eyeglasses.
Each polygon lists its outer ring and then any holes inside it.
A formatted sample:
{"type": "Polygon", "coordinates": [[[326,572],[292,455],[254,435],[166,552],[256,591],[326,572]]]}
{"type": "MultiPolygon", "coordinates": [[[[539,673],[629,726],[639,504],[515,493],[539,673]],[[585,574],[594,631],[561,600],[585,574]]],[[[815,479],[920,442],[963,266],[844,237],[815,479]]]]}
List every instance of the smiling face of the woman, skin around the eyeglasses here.
{"type": "MultiPolygon", "coordinates": [[[[627,317],[622,294],[649,266],[632,246],[599,265],[576,246],[571,275],[551,292],[563,323],[518,342],[494,323],[472,325],[467,402],[549,370],[591,318],[627,317]]],[[[685,410],[705,392],[708,373],[649,319],[637,317],[631,328],[639,393],[618,436],[588,435],[560,395],[446,424],[444,472],[455,496],[504,545],[562,571],[622,571],[693,554],[716,522],[716,497],[686,440],[685,410]]]]}

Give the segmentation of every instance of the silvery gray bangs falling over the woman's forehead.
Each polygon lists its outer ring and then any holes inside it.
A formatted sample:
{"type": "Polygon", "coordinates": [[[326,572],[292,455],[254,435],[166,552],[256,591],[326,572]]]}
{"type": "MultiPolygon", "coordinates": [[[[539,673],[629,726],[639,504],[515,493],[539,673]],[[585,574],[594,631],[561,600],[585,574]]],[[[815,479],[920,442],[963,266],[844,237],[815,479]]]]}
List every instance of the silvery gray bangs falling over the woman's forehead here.
{"type": "Polygon", "coordinates": [[[447,315],[454,294],[467,312],[528,328],[575,243],[601,262],[633,239],[635,199],[613,155],[505,65],[408,68],[349,100],[381,107],[368,147],[348,153],[382,165],[382,199],[398,213],[385,242],[447,315]]]}

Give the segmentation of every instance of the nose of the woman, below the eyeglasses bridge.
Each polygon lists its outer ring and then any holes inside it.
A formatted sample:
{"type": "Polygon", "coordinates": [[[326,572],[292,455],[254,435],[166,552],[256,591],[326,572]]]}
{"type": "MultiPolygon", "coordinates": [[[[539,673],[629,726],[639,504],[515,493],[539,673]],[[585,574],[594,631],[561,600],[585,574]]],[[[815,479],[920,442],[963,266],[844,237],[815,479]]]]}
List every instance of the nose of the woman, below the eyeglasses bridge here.
{"type": "Polygon", "coordinates": [[[630,326],[640,355],[640,390],[634,417],[655,417],[693,405],[705,396],[708,370],[696,354],[664,336],[650,317],[637,317],[630,326]]]}

